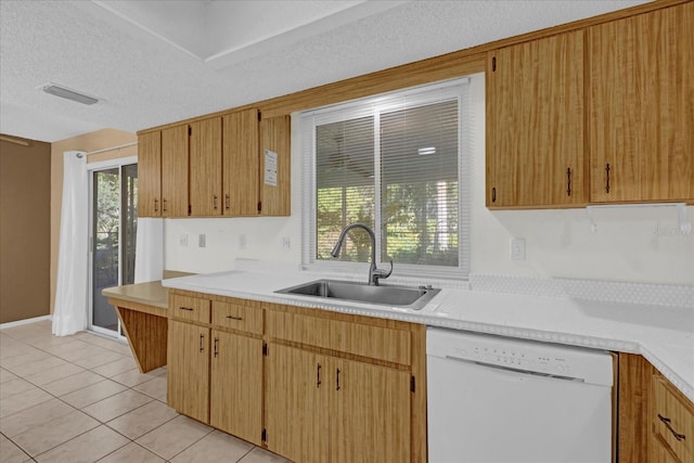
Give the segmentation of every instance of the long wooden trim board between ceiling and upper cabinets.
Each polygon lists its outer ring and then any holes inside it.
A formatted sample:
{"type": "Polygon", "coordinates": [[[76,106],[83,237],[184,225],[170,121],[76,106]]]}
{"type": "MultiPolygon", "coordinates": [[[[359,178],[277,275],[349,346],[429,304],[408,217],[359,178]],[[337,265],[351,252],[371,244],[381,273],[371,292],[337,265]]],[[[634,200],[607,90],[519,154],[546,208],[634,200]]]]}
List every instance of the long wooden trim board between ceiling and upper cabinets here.
{"type": "Polygon", "coordinates": [[[264,117],[287,115],[295,111],[320,107],[327,104],[334,104],[343,101],[370,97],[377,93],[400,90],[408,87],[430,83],[438,80],[452,79],[470,74],[483,73],[485,70],[486,53],[491,50],[543,37],[550,37],[556,34],[563,34],[583,27],[590,27],[609,21],[620,20],[624,17],[633,16],[635,14],[646,13],[650,11],[659,10],[661,8],[685,3],[687,1],[691,0],[657,0],[635,5],[629,9],[618,10],[611,13],[601,14],[599,16],[563,24],[560,26],[549,27],[528,34],[522,34],[519,36],[496,40],[493,42],[483,43],[452,53],[416,61],[414,63],[408,63],[400,66],[377,70],[375,73],[339,80],[337,82],[313,87],[286,95],[264,100],[247,105],[236,106],[217,113],[175,121],[163,126],[143,129],[138,131],[138,134],[146,133],[153,130],[160,130],[163,128],[168,128],[180,124],[188,124],[211,116],[223,116],[236,111],[248,110],[252,107],[259,108],[262,112],[264,117]]]}

